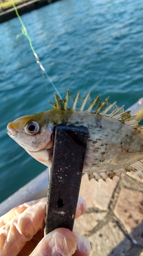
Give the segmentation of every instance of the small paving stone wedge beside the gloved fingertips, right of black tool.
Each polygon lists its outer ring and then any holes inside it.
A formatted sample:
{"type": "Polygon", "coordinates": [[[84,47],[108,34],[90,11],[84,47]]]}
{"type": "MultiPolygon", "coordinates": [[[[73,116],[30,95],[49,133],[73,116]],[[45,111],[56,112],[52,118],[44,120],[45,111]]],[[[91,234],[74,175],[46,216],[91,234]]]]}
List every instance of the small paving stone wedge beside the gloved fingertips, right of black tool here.
{"type": "Polygon", "coordinates": [[[105,216],[106,212],[84,213],[74,221],[74,229],[80,234],[89,233],[97,223],[105,216]]]}

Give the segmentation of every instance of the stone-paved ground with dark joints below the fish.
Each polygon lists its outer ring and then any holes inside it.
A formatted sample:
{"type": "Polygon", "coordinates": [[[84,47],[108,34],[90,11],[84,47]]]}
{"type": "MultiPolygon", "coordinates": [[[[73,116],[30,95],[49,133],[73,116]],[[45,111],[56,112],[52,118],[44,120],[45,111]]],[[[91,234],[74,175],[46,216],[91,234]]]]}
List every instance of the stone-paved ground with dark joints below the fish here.
{"type": "Polygon", "coordinates": [[[74,228],[91,242],[90,256],[143,256],[143,172],[88,180],[80,196],[87,202],[74,228]]]}

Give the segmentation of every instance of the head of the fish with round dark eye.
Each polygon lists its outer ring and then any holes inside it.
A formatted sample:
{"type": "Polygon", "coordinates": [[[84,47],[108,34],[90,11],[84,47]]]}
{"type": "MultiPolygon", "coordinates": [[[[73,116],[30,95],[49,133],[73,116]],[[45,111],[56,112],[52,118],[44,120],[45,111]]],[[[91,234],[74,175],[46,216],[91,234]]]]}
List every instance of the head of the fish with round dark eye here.
{"type": "Polygon", "coordinates": [[[7,125],[8,135],[30,155],[48,150],[53,145],[54,124],[45,115],[42,112],[23,116],[7,125]]]}

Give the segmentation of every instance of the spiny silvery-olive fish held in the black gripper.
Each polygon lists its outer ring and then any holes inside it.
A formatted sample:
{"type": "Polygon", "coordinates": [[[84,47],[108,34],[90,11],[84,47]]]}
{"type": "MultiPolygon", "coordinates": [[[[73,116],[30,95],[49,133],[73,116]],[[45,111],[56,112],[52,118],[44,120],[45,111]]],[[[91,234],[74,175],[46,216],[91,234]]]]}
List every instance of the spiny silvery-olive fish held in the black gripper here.
{"type": "Polygon", "coordinates": [[[98,181],[142,168],[143,126],[138,124],[124,105],[110,103],[109,97],[94,100],[90,93],[82,99],[80,92],[73,98],[69,90],[65,99],[54,93],[52,110],[22,116],[7,125],[8,135],[33,158],[51,168],[54,129],[58,124],[85,126],[89,140],[83,173],[98,181]]]}

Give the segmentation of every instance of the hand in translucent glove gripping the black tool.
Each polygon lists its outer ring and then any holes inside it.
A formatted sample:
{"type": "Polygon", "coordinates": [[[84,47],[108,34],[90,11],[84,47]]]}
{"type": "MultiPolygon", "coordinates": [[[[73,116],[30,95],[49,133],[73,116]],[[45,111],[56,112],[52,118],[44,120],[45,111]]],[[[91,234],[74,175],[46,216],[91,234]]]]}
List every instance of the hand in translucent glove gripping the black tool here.
{"type": "MultiPolygon", "coordinates": [[[[57,228],[43,238],[46,198],[24,203],[0,218],[1,256],[88,256],[90,242],[66,228],[57,228]]],[[[85,211],[79,197],[75,218],[85,211]]]]}

